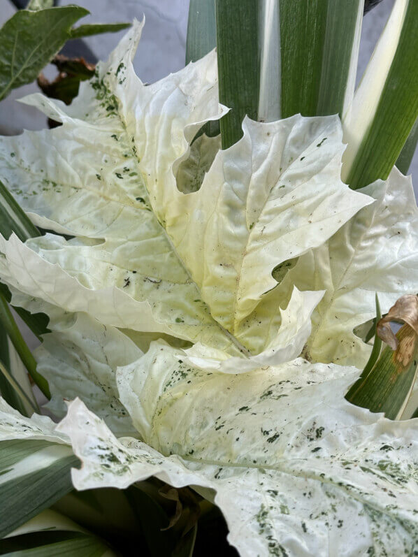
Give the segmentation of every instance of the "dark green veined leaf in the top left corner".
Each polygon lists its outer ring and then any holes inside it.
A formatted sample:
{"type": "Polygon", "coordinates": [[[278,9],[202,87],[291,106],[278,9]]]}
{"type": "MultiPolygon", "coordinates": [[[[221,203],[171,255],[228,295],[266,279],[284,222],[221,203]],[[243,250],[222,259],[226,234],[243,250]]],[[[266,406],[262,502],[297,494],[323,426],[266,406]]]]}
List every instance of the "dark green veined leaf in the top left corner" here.
{"type": "Polygon", "coordinates": [[[19,10],[0,29],[0,99],[36,79],[89,12],[78,6],[19,10]]]}

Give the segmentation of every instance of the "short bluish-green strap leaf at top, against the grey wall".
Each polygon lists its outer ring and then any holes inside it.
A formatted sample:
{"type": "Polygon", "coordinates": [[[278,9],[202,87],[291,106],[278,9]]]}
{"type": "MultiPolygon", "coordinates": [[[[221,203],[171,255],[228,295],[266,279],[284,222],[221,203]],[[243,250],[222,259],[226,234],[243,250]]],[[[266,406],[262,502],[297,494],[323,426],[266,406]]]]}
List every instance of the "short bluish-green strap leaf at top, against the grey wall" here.
{"type": "Polygon", "coordinates": [[[215,46],[215,0],[190,0],[186,64],[203,58],[215,46]]]}

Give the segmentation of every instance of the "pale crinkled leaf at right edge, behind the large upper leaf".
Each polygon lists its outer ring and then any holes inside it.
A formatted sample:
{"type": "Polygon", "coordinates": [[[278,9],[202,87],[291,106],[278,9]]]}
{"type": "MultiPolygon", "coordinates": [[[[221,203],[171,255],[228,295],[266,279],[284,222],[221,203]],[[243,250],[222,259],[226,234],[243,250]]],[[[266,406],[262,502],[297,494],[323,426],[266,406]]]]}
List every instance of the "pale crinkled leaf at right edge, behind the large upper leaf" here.
{"type": "MultiPolygon", "coordinates": [[[[324,289],[312,314],[307,355],[363,368],[370,347],[353,330],[403,294],[417,292],[418,211],[411,179],[397,168],[388,180],[363,188],[375,203],[363,208],[324,245],[300,257],[281,284],[284,291],[324,289]]],[[[279,293],[278,293],[279,294],[279,293]]]]}

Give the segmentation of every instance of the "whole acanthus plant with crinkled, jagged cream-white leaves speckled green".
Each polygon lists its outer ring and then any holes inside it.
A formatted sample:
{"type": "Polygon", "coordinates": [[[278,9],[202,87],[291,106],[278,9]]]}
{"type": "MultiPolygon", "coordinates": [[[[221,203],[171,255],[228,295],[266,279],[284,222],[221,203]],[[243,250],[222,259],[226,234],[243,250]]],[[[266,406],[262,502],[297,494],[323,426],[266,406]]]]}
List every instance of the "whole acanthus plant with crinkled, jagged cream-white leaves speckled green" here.
{"type": "Polygon", "coordinates": [[[73,451],[78,490],[192,486],[243,556],[412,554],[417,420],[345,400],[375,295],[387,313],[415,294],[410,178],[343,183],[337,115],[246,117],[222,150],[198,133],[228,110],[216,52],[143,85],[142,25],[70,106],[24,100],[61,126],[1,138],[1,179],[48,232],[1,237],[0,278],[49,317],[36,370],[63,418],[2,402],[1,439],[48,441],[35,468],[73,451]]]}

